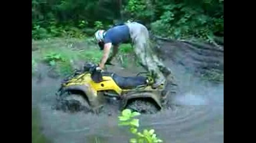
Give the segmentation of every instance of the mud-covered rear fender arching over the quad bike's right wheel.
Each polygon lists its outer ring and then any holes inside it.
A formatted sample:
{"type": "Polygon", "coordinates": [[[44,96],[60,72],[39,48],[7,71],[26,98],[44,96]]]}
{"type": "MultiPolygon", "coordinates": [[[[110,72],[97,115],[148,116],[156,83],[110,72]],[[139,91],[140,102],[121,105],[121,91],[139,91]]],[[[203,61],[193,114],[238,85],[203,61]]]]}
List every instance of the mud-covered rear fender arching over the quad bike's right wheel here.
{"type": "Polygon", "coordinates": [[[156,105],[158,105],[158,107],[162,109],[161,94],[156,94],[155,92],[149,92],[149,91],[125,94],[124,98],[122,99],[121,108],[124,109],[127,106],[127,102],[135,98],[151,98],[153,101],[156,102],[156,105]]]}

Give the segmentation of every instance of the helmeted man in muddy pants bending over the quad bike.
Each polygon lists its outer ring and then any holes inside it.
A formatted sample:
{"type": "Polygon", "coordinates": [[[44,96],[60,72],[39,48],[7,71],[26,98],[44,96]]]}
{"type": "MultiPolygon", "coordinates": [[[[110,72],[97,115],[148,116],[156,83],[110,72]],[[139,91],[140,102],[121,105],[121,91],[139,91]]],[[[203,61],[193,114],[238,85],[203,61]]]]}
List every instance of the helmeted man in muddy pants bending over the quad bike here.
{"type": "Polygon", "coordinates": [[[103,50],[103,57],[99,67],[104,69],[105,63],[111,61],[118,53],[119,45],[122,43],[132,43],[134,52],[140,60],[140,64],[147,70],[156,75],[155,83],[152,88],[165,83],[164,72],[170,74],[170,69],[164,66],[156,55],[153,54],[152,44],[149,41],[147,28],[140,23],[128,22],[119,24],[109,30],[98,30],[95,32],[95,39],[103,50]],[[110,49],[113,46],[113,53],[109,57],[110,49]]]}

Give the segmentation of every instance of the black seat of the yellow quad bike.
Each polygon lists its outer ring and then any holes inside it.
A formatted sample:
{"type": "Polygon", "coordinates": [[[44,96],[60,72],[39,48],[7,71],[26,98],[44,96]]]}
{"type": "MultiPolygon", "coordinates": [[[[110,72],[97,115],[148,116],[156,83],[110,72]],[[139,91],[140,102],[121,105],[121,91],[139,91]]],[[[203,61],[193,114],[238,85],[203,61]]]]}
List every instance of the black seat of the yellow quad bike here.
{"type": "Polygon", "coordinates": [[[141,85],[146,85],[147,84],[147,81],[146,81],[147,77],[144,77],[144,76],[124,77],[124,76],[119,76],[116,73],[109,73],[109,72],[104,72],[103,76],[105,76],[107,74],[108,75],[111,74],[113,80],[122,89],[133,89],[133,88],[136,88],[137,86],[141,86],[141,85]]]}

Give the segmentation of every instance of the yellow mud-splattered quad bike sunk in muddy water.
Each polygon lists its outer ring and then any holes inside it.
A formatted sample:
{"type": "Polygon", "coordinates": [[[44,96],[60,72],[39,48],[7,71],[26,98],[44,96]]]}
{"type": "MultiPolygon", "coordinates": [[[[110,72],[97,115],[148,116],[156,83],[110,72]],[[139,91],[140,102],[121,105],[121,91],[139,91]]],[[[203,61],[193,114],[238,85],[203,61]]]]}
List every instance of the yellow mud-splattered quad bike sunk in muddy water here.
{"type": "Polygon", "coordinates": [[[162,85],[159,88],[151,87],[153,77],[146,76],[123,77],[109,71],[97,70],[97,65],[86,63],[82,70],[64,80],[59,88],[57,100],[65,104],[79,105],[94,113],[98,113],[106,101],[117,100],[119,109],[129,108],[140,113],[156,113],[167,107],[170,89],[162,85]]]}

